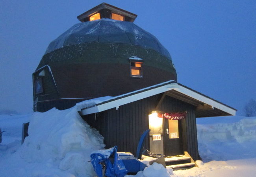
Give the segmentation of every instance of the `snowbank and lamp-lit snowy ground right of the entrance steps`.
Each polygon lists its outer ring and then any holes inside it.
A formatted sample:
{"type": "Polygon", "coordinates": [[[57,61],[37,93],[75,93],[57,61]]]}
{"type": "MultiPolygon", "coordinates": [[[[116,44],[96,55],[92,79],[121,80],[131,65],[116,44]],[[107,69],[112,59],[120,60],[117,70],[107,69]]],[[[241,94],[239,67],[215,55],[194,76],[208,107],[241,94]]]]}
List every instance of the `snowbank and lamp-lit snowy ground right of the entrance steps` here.
{"type": "Polygon", "coordinates": [[[256,117],[197,118],[200,168],[177,170],[182,177],[256,176],[256,117]]]}

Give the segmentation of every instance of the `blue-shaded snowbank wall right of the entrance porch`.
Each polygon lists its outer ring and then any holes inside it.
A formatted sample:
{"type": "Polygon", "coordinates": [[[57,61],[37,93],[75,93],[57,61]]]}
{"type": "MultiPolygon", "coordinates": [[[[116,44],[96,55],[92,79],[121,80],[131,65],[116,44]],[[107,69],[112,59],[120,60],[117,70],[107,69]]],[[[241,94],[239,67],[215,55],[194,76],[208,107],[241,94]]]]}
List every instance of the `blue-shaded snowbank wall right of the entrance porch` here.
{"type": "Polygon", "coordinates": [[[205,162],[255,156],[256,117],[199,118],[197,123],[198,150],[205,162]]]}

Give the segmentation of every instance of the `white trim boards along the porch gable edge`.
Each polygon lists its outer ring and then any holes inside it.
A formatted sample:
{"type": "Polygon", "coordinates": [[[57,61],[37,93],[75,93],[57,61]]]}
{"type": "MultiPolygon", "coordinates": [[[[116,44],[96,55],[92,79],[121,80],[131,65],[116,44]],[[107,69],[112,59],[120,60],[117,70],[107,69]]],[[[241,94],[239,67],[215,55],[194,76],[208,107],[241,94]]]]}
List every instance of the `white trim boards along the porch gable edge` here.
{"type": "Polygon", "coordinates": [[[223,105],[217,101],[211,100],[210,98],[207,98],[206,96],[203,96],[193,90],[187,89],[181,85],[178,85],[178,83],[170,83],[167,85],[163,85],[154,89],[146,90],[144,92],[140,92],[137,94],[133,94],[127,97],[123,97],[117,100],[109,101],[107,103],[103,103],[100,105],[95,105],[94,107],[89,107],[87,109],[83,109],[81,111],[82,115],[92,114],[96,112],[102,112],[108,109],[112,109],[115,107],[119,107],[121,105],[131,103],[137,100],[141,100],[156,94],[160,94],[163,92],[167,92],[169,90],[176,90],[177,92],[180,92],[182,94],[185,94],[191,98],[194,98],[195,100],[201,101],[203,103],[206,103],[208,105],[211,105],[212,107],[215,107],[217,109],[220,109],[224,112],[227,112],[232,115],[236,115],[236,110],[227,107],[226,105],[223,105]]]}

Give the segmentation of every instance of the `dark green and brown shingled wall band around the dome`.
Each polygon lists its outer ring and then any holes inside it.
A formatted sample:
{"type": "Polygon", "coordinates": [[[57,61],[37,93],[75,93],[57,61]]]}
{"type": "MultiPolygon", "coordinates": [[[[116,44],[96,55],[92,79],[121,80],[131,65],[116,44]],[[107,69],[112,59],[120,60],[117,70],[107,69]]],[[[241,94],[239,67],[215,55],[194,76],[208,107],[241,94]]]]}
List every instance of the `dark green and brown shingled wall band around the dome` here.
{"type": "Polygon", "coordinates": [[[177,79],[169,58],[130,44],[91,42],[65,46],[45,54],[37,68],[45,65],[51,67],[59,98],[117,96],[177,79]],[[143,58],[143,78],[130,77],[131,56],[143,58]]]}

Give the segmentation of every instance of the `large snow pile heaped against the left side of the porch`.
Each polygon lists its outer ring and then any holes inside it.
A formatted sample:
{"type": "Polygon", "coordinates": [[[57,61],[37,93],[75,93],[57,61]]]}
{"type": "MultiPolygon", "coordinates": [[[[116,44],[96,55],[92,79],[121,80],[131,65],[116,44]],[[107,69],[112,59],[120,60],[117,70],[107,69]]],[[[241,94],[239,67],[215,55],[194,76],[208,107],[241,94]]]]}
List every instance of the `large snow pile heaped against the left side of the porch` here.
{"type": "Polygon", "coordinates": [[[17,152],[0,160],[1,176],[95,175],[88,160],[92,151],[104,148],[103,137],[82,120],[76,107],[33,113],[28,134],[17,152]]]}

